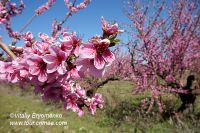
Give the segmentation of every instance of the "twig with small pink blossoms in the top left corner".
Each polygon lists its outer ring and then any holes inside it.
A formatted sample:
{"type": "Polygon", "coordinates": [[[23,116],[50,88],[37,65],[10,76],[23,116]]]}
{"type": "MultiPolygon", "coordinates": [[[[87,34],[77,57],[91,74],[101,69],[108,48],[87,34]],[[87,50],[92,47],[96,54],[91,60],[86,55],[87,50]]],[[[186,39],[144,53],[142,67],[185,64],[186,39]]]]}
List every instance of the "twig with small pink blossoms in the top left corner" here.
{"type": "Polygon", "coordinates": [[[0,24],[5,25],[10,37],[20,37],[19,32],[13,32],[11,29],[11,17],[20,14],[24,7],[25,5],[22,0],[19,6],[17,6],[16,3],[12,3],[6,0],[0,1],[0,24]]]}

